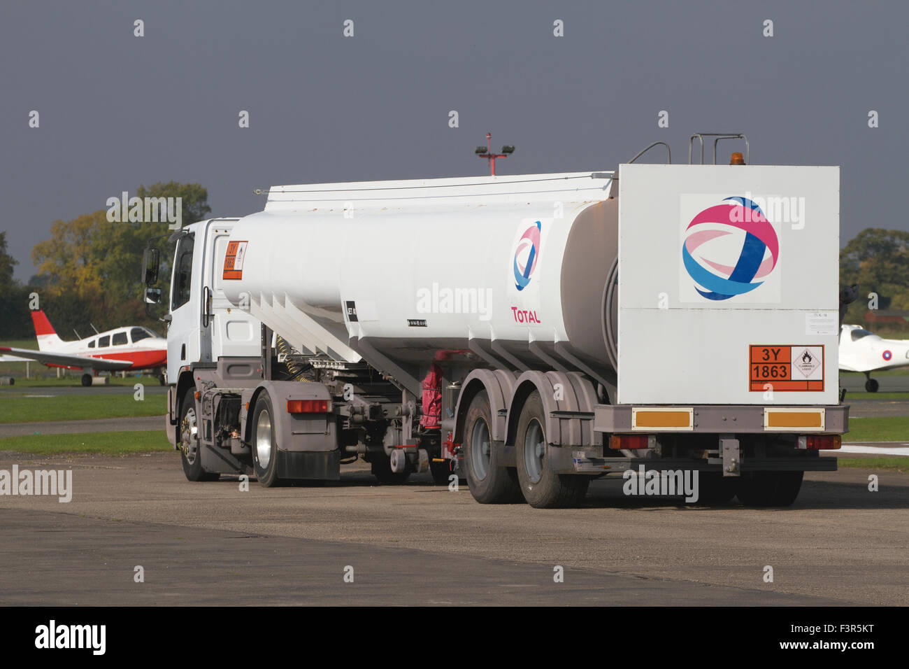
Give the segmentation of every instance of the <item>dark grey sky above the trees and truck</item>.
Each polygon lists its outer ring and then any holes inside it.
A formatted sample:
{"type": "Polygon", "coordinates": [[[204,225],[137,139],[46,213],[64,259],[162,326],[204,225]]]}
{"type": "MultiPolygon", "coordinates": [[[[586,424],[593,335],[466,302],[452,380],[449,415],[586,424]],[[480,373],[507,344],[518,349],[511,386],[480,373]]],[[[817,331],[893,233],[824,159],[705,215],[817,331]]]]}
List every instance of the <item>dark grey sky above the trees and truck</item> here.
{"type": "Polygon", "coordinates": [[[657,139],[684,162],[719,129],[754,163],[842,166],[844,241],[909,230],[907,19],[904,2],[4,0],[0,229],[28,279],[55,218],[140,184],[197,181],[242,216],[273,184],[484,174],[487,130],[517,174],[612,169],[657,139]]]}

